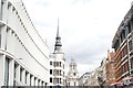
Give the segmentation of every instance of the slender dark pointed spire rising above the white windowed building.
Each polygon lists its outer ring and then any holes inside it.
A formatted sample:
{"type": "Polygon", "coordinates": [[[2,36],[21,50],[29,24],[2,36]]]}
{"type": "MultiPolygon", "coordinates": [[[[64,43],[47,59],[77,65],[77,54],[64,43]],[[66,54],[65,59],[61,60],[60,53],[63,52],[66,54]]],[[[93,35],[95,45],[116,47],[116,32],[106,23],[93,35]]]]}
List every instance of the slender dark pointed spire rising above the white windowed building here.
{"type": "Polygon", "coordinates": [[[54,45],[54,52],[60,53],[61,52],[61,37],[59,36],[59,19],[58,19],[58,31],[57,31],[57,37],[55,37],[55,45],[54,45]]]}

